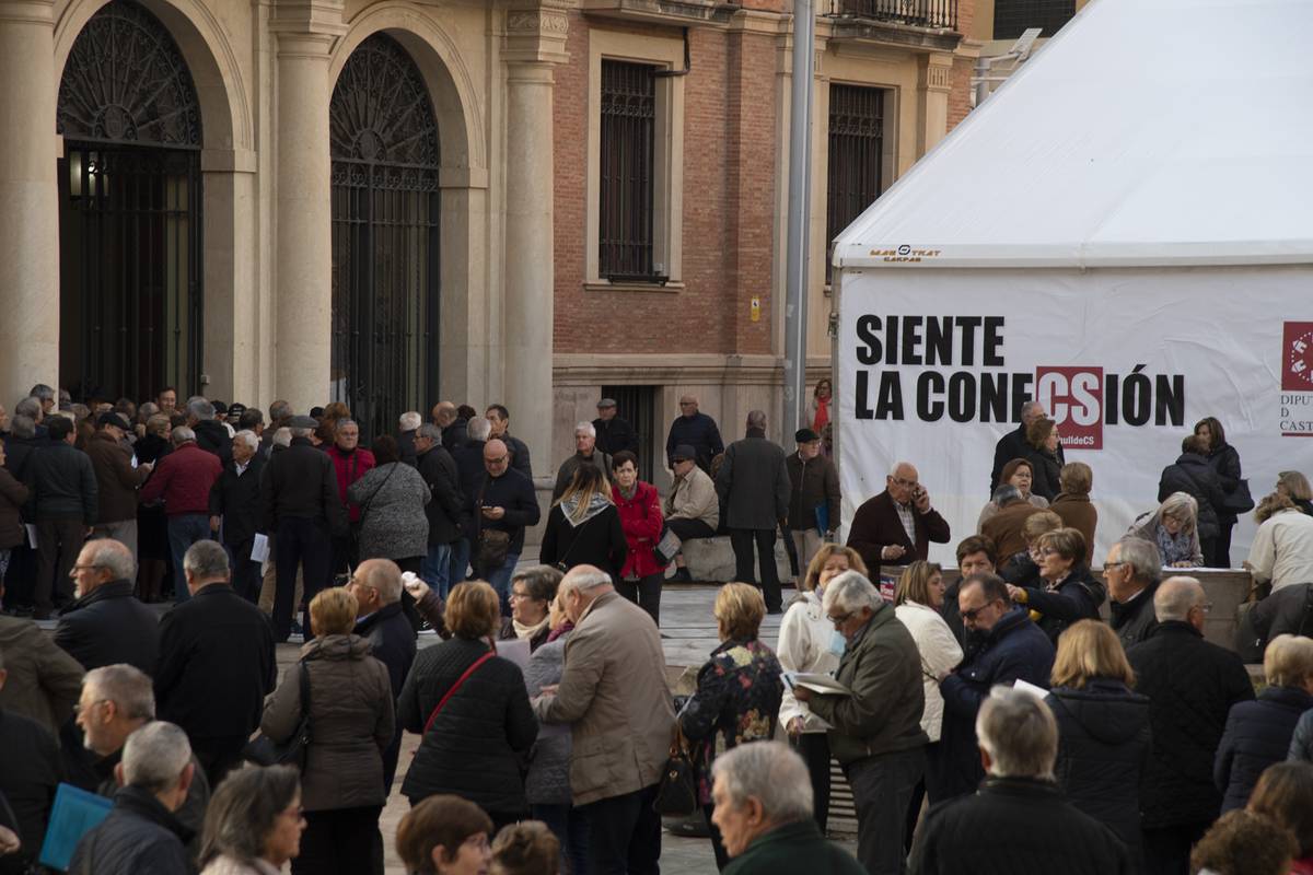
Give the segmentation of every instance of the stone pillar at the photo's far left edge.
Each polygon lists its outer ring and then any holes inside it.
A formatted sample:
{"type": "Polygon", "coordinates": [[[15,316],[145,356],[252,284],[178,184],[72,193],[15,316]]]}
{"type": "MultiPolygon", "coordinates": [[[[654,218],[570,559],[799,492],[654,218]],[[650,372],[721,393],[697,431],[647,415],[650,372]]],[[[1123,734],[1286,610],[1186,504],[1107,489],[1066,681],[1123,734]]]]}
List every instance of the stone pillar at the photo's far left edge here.
{"type": "Polygon", "coordinates": [[[59,384],[51,0],[0,0],[0,404],[59,384]]]}

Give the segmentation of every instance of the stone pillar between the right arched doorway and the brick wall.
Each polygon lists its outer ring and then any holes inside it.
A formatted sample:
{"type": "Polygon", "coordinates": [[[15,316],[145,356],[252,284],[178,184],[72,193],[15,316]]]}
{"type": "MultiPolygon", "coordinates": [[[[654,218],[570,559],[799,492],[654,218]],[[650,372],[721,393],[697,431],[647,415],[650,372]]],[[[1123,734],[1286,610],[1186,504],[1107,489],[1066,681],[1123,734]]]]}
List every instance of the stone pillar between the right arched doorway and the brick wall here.
{"type": "Polygon", "coordinates": [[[534,474],[551,458],[553,135],[551,67],[565,62],[563,9],[507,12],[506,405],[534,474]]]}

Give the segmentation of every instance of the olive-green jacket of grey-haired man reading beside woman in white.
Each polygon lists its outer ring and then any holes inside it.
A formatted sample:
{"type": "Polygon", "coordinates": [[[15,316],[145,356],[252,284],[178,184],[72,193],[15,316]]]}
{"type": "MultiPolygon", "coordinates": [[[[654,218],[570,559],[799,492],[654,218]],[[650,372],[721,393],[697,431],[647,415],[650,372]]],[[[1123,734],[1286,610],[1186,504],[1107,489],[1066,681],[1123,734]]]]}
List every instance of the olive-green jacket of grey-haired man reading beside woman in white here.
{"type": "Polygon", "coordinates": [[[881,605],[861,639],[848,644],[835,677],[852,695],[817,695],[810,707],[834,727],[830,752],[840,765],[928,744],[920,728],[920,652],[892,605],[881,605]]]}

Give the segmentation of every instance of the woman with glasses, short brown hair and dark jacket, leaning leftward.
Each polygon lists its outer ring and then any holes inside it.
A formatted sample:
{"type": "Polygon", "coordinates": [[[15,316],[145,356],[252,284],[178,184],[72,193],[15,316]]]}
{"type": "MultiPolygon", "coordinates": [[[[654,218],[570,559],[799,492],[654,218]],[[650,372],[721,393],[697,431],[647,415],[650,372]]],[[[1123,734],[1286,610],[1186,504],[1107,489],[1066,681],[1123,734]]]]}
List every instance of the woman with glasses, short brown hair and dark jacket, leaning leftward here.
{"type": "Polygon", "coordinates": [[[1103,581],[1090,575],[1085,564],[1085,537],[1075,529],[1058,529],[1040,535],[1040,581],[1037,586],[1014,586],[1007,593],[1018,605],[1031,609],[1031,619],[1058,640],[1071,623],[1099,619],[1099,605],[1108,597],[1103,581]],[[1039,614],[1039,617],[1036,617],[1039,614]]]}

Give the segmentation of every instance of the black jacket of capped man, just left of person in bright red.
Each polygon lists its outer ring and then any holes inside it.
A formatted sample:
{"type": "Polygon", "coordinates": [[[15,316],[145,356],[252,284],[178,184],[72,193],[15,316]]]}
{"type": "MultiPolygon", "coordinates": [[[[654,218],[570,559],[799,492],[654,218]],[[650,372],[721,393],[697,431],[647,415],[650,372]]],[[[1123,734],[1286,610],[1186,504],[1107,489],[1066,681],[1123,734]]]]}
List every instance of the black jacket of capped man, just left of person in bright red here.
{"type": "Polygon", "coordinates": [[[269,457],[260,483],[260,529],[276,533],[288,518],[314,519],[334,534],[347,533],[347,509],[337,495],[337,472],[310,438],[269,457]]]}

